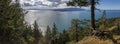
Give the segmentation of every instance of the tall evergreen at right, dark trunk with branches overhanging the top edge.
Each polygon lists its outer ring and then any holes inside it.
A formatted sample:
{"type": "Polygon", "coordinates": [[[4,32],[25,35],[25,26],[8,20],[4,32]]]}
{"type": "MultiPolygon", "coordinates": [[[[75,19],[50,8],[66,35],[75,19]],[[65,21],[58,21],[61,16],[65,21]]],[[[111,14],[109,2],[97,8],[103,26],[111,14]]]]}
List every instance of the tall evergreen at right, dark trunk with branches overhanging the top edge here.
{"type": "Polygon", "coordinates": [[[68,6],[89,6],[91,5],[91,28],[95,30],[95,4],[99,0],[72,0],[67,3],[68,6]]]}

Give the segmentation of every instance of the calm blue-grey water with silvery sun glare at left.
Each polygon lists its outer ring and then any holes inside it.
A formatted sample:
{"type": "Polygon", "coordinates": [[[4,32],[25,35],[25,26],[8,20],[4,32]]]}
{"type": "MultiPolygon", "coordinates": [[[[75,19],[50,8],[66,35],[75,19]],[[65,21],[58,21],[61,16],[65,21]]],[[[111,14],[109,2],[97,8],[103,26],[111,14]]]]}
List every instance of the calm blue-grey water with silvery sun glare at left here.
{"type": "MultiPolygon", "coordinates": [[[[102,11],[97,11],[96,19],[102,15],[102,11]]],[[[107,10],[107,18],[120,17],[120,10],[107,10]]],[[[71,25],[72,19],[90,19],[90,11],[41,11],[41,10],[29,10],[25,16],[25,20],[29,24],[33,24],[36,20],[42,31],[46,29],[46,26],[53,26],[56,23],[59,31],[68,29],[71,25]]]]}

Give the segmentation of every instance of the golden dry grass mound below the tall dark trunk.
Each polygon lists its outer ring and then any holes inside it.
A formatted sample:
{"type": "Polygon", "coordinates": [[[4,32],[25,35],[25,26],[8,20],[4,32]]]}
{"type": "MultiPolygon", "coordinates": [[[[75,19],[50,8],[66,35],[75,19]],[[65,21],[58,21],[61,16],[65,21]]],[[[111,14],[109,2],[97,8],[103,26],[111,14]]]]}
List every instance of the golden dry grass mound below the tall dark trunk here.
{"type": "Polygon", "coordinates": [[[78,44],[113,44],[113,42],[110,39],[101,40],[96,36],[88,36],[79,41],[78,44]]]}

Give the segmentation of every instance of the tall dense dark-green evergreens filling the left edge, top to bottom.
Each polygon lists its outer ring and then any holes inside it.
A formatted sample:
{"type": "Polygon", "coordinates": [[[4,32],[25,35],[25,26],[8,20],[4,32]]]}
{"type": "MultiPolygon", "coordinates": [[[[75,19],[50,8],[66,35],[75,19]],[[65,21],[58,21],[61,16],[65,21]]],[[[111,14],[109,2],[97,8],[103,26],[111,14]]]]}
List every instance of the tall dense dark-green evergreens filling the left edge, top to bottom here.
{"type": "Polygon", "coordinates": [[[19,1],[0,0],[0,44],[24,44],[24,13],[19,1]]]}

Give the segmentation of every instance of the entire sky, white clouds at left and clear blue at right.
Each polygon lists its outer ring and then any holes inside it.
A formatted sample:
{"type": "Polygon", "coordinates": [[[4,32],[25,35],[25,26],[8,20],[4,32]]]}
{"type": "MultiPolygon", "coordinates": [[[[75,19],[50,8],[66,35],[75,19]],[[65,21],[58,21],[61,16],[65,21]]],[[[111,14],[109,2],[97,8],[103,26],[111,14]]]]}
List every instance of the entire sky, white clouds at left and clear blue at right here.
{"type": "MultiPolygon", "coordinates": [[[[66,2],[69,0],[20,0],[24,8],[68,8],[66,2]]],[[[100,0],[96,5],[99,9],[120,10],[120,0],[100,0]]],[[[83,7],[89,9],[89,7],[83,7]]]]}

